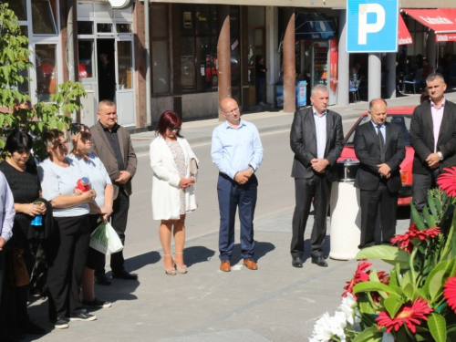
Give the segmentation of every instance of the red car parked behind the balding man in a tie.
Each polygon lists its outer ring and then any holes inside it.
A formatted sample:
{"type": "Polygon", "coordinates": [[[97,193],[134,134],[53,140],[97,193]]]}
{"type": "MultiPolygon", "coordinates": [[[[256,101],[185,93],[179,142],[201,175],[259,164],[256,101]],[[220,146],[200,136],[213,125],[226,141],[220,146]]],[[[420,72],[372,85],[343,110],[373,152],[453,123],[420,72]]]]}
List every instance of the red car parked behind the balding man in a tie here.
{"type": "MultiPolygon", "coordinates": [[[[411,169],[413,165],[413,157],[415,150],[410,146],[410,121],[413,109],[416,106],[402,106],[402,107],[389,107],[387,121],[399,125],[402,128],[402,138],[406,146],[405,159],[400,164],[400,181],[402,181],[402,187],[399,191],[398,205],[408,206],[411,201],[411,183],[413,177],[411,169]]],[[[355,130],[359,125],[370,121],[370,115],[368,112],[363,113],[353,127],[348,131],[347,136],[344,140],[344,150],[337,162],[343,162],[347,160],[358,161],[355,155],[355,148],[353,146],[353,140],[355,139],[355,130]]]]}

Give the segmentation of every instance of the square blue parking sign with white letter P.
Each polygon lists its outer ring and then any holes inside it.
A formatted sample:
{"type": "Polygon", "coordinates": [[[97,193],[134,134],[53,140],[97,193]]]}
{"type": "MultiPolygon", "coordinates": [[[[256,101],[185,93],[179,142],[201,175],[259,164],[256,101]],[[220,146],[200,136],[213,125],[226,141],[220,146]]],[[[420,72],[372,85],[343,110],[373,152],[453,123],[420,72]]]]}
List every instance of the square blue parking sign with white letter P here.
{"type": "Polygon", "coordinates": [[[399,0],[347,0],[347,52],[398,52],[399,0]]]}

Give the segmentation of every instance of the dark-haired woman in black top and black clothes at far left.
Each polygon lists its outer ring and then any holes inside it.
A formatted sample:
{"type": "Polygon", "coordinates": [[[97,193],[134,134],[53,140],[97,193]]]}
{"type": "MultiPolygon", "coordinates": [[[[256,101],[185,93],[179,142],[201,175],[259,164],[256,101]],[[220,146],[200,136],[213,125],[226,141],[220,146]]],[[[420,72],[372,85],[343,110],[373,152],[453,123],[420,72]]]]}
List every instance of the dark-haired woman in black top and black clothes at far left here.
{"type": "MultiPolygon", "coordinates": [[[[34,203],[40,197],[40,188],[36,166],[27,162],[32,146],[33,140],[30,135],[24,131],[14,131],[6,140],[5,150],[8,157],[6,161],[0,163],[0,171],[5,174],[6,181],[13,192],[16,210],[13,237],[6,244],[7,254],[13,257],[13,254],[22,253],[28,275],[35,263],[29,240],[40,233],[39,230],[44,229],[42,225],[33,226],[31,223],[36,215],[43,216],[47,212],[44,202],[34,203]]],[[[12,271],[13,269],[6,266],[8,273],[6,275],[8,279],[6,326],[8,326],[9,335],[17,337],[21,333],[46,334],[46,329],[36,326],[27,314],[28,285],[18,280],[17,275],[12,271]]]]}

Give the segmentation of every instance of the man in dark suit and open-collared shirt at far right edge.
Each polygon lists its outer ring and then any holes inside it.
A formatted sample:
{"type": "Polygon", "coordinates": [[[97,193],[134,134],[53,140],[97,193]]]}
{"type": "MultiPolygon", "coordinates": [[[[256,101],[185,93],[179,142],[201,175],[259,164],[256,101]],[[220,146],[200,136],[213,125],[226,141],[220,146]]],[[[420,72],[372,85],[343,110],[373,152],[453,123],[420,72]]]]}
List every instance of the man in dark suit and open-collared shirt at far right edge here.
{"type": "Polygon", "coordinates": [[[410,144],[415,150],[413,205],[419,212],[443,168],[456,164],[456,104],[443,96],[447,85],[440,74],[430,74],[426,87],[430,101],[413,111],[410,122],[410,144]]]}

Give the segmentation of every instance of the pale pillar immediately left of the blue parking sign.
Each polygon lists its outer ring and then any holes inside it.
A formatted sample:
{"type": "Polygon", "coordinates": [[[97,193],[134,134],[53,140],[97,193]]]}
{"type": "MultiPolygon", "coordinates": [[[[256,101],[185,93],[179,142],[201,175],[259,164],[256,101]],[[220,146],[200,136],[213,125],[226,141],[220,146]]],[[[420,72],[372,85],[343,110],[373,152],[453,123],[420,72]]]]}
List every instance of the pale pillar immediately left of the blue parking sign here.
{"type": "Polygon", "coordinates": [[[339,46],[337,66],[337,105],[350,103],[348,94],[349,55],[347,53],[347,11],[339,11],[339,46]]]}

